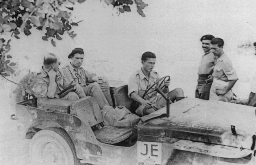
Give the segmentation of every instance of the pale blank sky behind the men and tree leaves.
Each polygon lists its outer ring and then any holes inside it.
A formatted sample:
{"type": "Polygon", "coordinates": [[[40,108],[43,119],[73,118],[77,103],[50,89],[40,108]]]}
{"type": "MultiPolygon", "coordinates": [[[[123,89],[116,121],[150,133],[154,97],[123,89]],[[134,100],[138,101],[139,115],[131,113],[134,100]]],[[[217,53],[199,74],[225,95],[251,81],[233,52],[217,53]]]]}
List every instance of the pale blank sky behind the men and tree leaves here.
{"type": "MultiPolygon", "coordinates": [[[[212,34],[224,39],[224,51],[234,67],[243,71],[241,74],[250,70],[248,66],[246,70],[243,68],[246,61],[237,61],[237,46],[256,41],[254,1],[144,1],[148,4],[143,10],[145,18],[136,12],[135,4],[131,6],[132,12],[119,15],[117,9],[103,1],[76,3],[72,21],[83,21],[72,29],[77,33],[74,40],[66,34],[57,42],[57,47],[53,47],[50,40],[41,40],[45,32],[32,30],[29,37],[12,38],[10,54],[19,68],[38,71],[46,53],[56,53],[65,64],[72,49],[81,47],[85,49],[84,68],[110,79],[128,81],[130,74],[141,66],[142,53],[152,51],[157,57],[155,69],[160,75],[171,75],[175,87],[181,84],[187,88],[186,82],[193,82],[187,90],[192,95],[203,53],[200,38],[212,34]]],[[[247,81],[248,76],[241,74],[245,77],[242,80],[247,81]]]]}

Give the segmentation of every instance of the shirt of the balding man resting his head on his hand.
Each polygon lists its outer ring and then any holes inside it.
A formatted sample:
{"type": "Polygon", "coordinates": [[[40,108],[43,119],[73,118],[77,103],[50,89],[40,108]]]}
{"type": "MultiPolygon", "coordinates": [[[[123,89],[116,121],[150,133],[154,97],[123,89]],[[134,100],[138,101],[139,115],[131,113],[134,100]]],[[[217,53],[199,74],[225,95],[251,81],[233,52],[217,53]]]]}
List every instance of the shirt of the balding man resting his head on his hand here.
{"type": "MultiPolygon", "coordinates": [[[[36,97],[47,97],[48,92],[48,86],[50,83],[50,78],[47,72],[43,70],[43,67],[41,71],[37,74],[38,79],[35,85],[33,86],[32,90],[35,93],[36,97]]],[[[56,93],[55,97],[58,98],[59,92],[61,92],[63,89],[67,88],[70,84],[70,82],[67,80],[65,75],[58,70],[55,77],[56,82],[56,93]]]]}

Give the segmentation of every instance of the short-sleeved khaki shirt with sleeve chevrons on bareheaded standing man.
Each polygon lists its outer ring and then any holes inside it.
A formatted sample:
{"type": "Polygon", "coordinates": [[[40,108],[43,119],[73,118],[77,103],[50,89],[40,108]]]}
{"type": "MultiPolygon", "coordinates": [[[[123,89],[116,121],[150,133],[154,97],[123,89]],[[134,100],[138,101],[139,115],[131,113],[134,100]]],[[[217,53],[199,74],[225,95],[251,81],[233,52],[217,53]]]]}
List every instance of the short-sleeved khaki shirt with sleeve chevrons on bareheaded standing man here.
{"type": "Polygon", "coordinates": [[[232,66],[232,62],[228,58],[226,54],[223,54],[219,57],[214,64],[213,68],[213,78],[219,79],[222,81],[230,81],[230,80],[237,80],[238,76],[236,71],[232,66]]]}

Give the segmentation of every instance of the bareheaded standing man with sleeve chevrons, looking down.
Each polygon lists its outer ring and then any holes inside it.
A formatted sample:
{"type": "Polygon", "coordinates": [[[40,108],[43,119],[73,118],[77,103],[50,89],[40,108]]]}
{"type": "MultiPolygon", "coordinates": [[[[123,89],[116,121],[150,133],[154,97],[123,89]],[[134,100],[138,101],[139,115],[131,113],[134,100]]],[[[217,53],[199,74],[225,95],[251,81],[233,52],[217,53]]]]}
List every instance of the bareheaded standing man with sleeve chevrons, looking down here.
{"type": "Polygon", "coordinates": [[[221,38],[211,40],[211,51],[217,57],[213,68],[213,83],[210,90],[210,100],[230,102],[233,99],[232,87],[238,77],[232,62],[223,51],[224,41],[221,38]]]}

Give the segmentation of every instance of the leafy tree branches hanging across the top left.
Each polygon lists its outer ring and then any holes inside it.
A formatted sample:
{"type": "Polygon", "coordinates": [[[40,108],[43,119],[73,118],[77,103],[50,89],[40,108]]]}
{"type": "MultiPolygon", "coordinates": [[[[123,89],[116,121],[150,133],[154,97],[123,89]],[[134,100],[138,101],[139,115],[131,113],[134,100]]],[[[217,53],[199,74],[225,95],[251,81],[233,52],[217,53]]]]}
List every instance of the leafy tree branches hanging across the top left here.
{"type": "MultiPolygon", "coordinates": [[[[85,0],[0,0],[0,34],[11,33],[11,37],[19,39],[20,33],[30,35],[30,30],[34,27],[45,31],[42,39],[50,40],[52,45],[56,46],[56,40],[62,40],[61,36],[65,32],[71,38],[76,37],[71,29],[73,26],[78,26],[82,20],[79,22],[70,20],[75,2],[82,3],[85,0]]],[[[137,12],[143,17],[145,14],[142,9],[148,6],[142,0],[104,0],[104,2],[113,5],[114,8],[117,7],[120,13],[130,12],[130,5],[135,2],[137,12]]],[[[0,46],[0,73],[7,67],[4,58],[10,48],[9,42],[10,40],[0,46]]]]}

